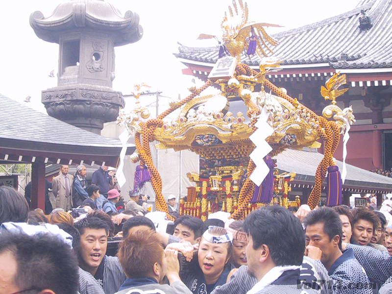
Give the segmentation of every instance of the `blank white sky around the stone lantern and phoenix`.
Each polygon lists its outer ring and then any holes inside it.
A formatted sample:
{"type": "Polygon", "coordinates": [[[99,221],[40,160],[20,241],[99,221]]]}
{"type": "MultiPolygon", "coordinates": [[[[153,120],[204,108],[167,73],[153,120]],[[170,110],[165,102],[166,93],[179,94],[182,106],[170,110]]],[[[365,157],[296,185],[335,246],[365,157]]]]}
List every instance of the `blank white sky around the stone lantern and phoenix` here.
{"type": "MultiPolygon", "coordinates": [[[[0,93],[45,111],[41,91],[57,85],[58,45],[39,39],[29,25],[29,16],[41,11],[49,17],[66,0],[3,1],[0,9],[0,93]]],[[[172,54],[177,41],[185,46],[215,46],[213,40],[196,40],[200,33],[221,36],[221,20],[231,0],[107,0],[122,15],[139,14],[143,38],[134,44],[116,47],[116,79],[113,89],[130,94],[133,84],[144,81],[151,92],[184,98],[192,77],[182,75],[185,66],[172,54]]],[[[249,21],[283,25],[268,28],[269,34],[321,21],[353,9],[359,0],[248,0],[249,21]]],[[[199,86],[200,81],[196,81],[199,86]]],[[[133,98],[126,98],[133,99],[133,98]]],[[[0,110],[1,111],[1,110],[0,110]]]]}

